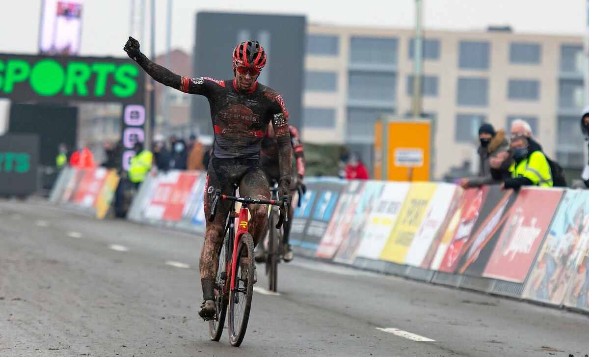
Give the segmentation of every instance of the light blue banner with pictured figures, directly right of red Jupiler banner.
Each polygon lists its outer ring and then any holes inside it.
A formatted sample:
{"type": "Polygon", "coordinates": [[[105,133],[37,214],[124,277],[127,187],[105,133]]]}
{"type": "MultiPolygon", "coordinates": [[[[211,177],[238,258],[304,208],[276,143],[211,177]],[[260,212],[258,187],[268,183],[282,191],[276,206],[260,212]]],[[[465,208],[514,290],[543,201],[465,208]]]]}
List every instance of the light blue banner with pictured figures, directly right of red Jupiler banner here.
{"type": "Polygon", "coordinates": [[[586,253],[587,214],[589,192],[567,190],[530,271],[522,297],[555,305],[563,302],[586,253]]]}

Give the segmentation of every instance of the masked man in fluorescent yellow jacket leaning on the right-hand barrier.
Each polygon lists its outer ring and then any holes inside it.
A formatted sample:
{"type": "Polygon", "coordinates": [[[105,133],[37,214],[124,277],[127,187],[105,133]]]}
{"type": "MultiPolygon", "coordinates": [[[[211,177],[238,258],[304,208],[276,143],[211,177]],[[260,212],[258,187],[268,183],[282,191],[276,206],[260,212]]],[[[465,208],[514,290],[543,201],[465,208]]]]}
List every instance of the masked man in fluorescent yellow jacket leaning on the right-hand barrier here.
{"type": "MultiPolygon", "coordinates": [[[[511,139],[511,156],[513,162],[509,167],[511,178],[503,181],[505,189],[519,189],[521,186],[552,187],[552,173],[550,164],[542,154],[542,151],[528,151],[530,143],[525,136],[517,136],[511,139]]],[[[492,168],[491,173],[498,177],[497,169],[492,168]]]]}

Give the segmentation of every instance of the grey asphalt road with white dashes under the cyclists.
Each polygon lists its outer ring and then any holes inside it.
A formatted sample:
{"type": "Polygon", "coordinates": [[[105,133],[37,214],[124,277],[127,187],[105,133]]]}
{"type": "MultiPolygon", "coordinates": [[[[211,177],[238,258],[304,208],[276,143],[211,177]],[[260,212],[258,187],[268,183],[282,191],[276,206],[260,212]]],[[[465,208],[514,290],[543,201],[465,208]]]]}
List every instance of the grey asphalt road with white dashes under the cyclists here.
{"type": "Polygon", "coordinates": [[[587,315],[302,257],[280,265],[280,295],[264,294],[259,267],[240,348],[227,330],[211,342],[197,314],[202,244],[0,201],[0,357],[589,355],[587,315]]]}

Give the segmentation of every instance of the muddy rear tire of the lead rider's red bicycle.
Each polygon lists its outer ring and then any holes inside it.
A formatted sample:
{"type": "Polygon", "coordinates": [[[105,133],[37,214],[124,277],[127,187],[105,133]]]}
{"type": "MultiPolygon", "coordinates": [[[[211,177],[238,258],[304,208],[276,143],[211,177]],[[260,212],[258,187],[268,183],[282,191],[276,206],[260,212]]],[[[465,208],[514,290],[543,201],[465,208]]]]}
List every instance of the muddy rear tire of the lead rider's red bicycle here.
{"type": "Polygon", "coordinates": [[[227,291],[229,285],[227,284],[227,262],[229,262],[229,234],[228,229],[219,248],[219,260],[217,261],[217,275],[215,277],[214,294],[215,294],[215,309],[217,315],[214,319],[209,320],[209,333],[211,341],[219,341],[223,335],[223,328],[225,325],[225,318],[227,316],[227,305],[229,303],[229,296],[227,291]]]}

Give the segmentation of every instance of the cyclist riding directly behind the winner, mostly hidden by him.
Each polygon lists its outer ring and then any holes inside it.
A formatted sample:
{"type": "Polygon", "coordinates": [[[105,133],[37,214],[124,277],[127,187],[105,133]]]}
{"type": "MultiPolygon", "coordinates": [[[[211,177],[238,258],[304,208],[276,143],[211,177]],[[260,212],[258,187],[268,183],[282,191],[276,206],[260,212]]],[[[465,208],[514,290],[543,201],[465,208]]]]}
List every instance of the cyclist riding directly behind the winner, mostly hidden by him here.
{"type": "MultiPolygon", "coordinates": [[[[303,178],[305,177],[305,153],[303,151],[303,144],[300,142],[300,135],[299,131],[293,126],[289,125],[290,131],[290,144],[293,148],[294,158],[296,158],[296,167],[297,167],[297,186],[300,185],[303,193],[306,191],[305,183],[303,183],[303,178]]],[[[266,136],[264,136],[262,140],[262,167],[264,169],[264,173],[266,174],[266,179],[268,179],[268,183],[270,186],[274,184],[274,182],[279,182],[280,180],[280,170],[279,170],[279,146],[276,140],[276,135],[274,135],[274,129],[268,126],[266,130],[266,136]]],[[[301,199],[301,197],[299,197],[301,199]]],[[[293,206],[292,204],[289,206],[289,217],[293,217],[293,206]]],[[[290,219],[288,222],[284,222],[284,233],[282,236],[282,259],[284,262],[290,262],[293,260],[293,253],[290,249],[289,244],[289,233],[290,233],[290,219]]],[[[273,229],[273,227],[270,227],[273,229]]],[[[264,252],[264,242],[260,243],[257,246],[256,251],[256,262],[264,262],[265,260],[265,252],[264,252]]]]}

